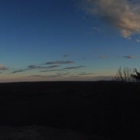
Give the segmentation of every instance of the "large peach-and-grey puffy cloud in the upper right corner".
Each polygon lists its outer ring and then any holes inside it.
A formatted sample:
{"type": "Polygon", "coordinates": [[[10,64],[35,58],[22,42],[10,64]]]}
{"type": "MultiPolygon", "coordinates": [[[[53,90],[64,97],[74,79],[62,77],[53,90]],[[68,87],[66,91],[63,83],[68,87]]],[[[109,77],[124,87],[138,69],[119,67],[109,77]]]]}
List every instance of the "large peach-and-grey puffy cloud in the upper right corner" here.
{"type": "Polygon", "coordinates": [[[124,38],[140,34],[140,2],[132,0],[83,0],[82,8],[119,29],[124,38]]]}

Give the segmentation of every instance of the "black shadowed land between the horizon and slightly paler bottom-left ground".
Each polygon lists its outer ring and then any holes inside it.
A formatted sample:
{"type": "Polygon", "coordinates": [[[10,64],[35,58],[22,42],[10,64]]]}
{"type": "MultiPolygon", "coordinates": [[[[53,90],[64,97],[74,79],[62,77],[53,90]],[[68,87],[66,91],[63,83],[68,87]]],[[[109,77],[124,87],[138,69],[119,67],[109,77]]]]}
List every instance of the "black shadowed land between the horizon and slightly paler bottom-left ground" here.
{"type": "Polygon", "coordinates": [[[49,126],[107,139],[140,139],[140,83],[0,84],[0,125],[49,126]]]}

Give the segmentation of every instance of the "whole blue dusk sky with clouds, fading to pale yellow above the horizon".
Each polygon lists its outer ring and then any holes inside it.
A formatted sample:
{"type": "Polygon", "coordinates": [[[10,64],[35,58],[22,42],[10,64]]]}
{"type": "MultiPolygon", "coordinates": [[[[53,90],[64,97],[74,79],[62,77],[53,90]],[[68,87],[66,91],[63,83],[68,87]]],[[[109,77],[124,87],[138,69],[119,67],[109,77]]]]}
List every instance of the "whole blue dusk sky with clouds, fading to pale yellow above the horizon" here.
{"type": "Polygon", "coordinates": [[[108,80],[140,70],[139,0],[1,0],[0,82],[108,80]]]}

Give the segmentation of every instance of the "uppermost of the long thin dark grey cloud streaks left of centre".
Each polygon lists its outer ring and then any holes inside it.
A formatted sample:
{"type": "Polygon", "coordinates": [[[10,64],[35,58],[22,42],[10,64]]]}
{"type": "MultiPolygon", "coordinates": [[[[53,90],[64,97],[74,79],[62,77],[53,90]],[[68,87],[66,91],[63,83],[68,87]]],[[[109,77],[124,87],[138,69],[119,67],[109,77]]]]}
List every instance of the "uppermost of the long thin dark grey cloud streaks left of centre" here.
{"type": "Polygon", "coordinates": [[[61,65],[61,64],[72,64],[74,63],[74,61],[71,61],[71,60],[66,60],[66,61],[63,61],[63,60],[57,60],[57,61],[50,61],[50,62],[47,62],[45,63],[46,65],[61,65]]]}

